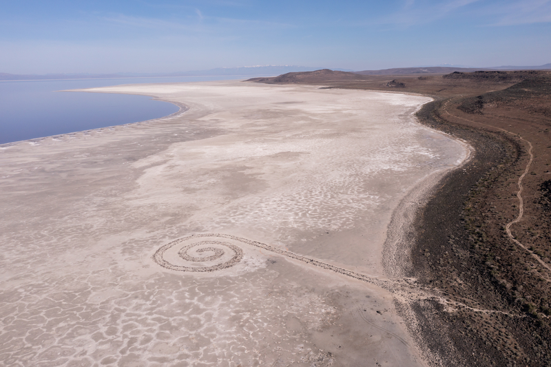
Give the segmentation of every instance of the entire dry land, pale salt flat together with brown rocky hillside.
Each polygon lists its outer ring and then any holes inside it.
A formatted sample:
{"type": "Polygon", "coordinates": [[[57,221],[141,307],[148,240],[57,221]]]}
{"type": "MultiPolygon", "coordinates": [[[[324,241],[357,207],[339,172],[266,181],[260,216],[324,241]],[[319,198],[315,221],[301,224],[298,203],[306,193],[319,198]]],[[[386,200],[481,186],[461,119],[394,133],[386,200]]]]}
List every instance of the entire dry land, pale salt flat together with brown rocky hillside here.
{"type": "Polygon", "coordinates": [[[548,78],[88,90],[183,109],[1,147],[0,360],[545,366],[548,78]]]}

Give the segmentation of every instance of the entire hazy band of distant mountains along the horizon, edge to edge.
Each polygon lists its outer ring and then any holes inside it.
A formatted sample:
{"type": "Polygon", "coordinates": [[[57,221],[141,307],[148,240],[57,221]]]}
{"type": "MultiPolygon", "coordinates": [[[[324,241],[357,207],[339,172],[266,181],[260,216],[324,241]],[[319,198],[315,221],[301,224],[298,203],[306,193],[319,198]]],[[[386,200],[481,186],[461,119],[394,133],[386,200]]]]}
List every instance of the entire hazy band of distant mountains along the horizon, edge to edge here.
{"type": "MultiPolygon", "coordinates": [[[[113,74],[8,74],[0,73],[0,81],[61,80],[61,79],[107,79],[107,78],[176,78],[178,76],[278,76],[289,72],[311,72],[323,67],[297,65],[258,65],[242,67],[216,67],[209,70],[173,73],[113,73],[113,74]]],[[[346,69],[333,69],[339,72],[351,72],[346,69]]],[[[551,63],[539,66],[495,66],[495,67],[396,67],[384,70],[363,70],[355,72],[362,75],[399,75],[399,74],[447,74],[450,72],[474,72],[475,70],[551,70],[551,63]]]]}

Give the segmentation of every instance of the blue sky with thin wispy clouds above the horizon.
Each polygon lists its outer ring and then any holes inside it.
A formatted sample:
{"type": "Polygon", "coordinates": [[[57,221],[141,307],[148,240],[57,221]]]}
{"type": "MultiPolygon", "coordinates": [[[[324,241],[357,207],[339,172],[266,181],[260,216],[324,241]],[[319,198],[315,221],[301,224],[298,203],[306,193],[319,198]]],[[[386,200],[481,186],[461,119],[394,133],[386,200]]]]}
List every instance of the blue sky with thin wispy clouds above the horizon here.
{"type": "Polygon", "coordinates": [[[1,0],[0,72],[551,62],[551,0],[1,0]]]}

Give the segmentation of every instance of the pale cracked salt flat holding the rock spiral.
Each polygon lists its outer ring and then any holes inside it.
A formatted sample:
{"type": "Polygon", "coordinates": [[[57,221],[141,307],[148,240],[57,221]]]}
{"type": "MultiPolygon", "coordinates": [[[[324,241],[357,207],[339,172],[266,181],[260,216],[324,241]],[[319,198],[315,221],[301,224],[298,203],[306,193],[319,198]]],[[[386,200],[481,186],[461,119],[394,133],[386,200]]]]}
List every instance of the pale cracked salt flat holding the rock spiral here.
{"type": "Polygon", "coordinates": [[[378,282],[395,274],[383,244],[400,200],[467,156],[415,123],[429,98],[237,81],[87,91],[189,109],[1,146],[0,361],[425,365],[378,282]]]}

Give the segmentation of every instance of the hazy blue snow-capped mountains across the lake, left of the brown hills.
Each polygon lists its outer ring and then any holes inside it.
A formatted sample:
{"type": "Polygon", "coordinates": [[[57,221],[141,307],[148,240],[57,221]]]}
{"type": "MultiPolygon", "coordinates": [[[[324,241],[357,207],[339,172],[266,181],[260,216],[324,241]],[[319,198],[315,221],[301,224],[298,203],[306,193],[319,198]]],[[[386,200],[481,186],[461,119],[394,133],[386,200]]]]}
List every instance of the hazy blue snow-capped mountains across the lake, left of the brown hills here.
{"type": "MultiPolygon", "coordinates": [[[[258,65],[242,67],[216,67],[209,70],[172,73],[113,73],[113,74],[8,74],[0,73],[0,81],[30,81],[59,79],[106,79],[106,78],[174,78],[178,76],[276,76],[288,72],[311,72],[323,67],[306,67],[297,65],[258,65]]],[[[352,70],[335,69],[351,72],[352,70]]]]}

